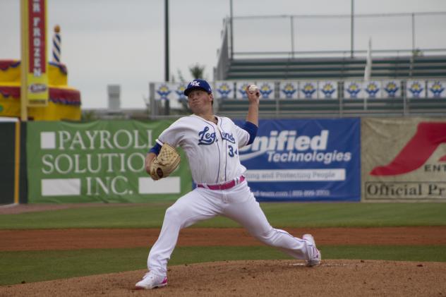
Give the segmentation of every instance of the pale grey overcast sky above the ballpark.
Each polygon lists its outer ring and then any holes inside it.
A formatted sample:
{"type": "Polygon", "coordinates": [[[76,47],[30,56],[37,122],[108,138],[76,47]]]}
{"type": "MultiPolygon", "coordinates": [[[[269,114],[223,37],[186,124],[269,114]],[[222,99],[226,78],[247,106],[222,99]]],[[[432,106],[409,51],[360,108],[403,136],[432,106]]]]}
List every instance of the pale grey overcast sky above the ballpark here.
{"type": "MultiPolygon", "coordinates": [[[[107,85],[121,85],[121,107],[144,108],[149,82],[164,81],[164,0],[47,0],[48,50],[54,25],[61,26],[61,61],[68,83],[81,92],[83,108],[106,108],[107,85]]],[[[20,1],[0,0],[0,59],[20,59],[20,1]]],[[[234,16],[349,14],[351,0],[234,0],[234,16]]],[[[223,19],[229,0],[170,0],[170,73],[205,66],[212,80],[223,19]]],[[[445,0],[356,0],[354,11],[412,13],[446,11],[445,0]]],[[[289,18],[237,20],[239,51],[289,51],[289,18]]],[[[350,20],[296,20],[294,50],[349,49],[350,20]],[[339,35],[338,35],[339,34],[339,35]]],[[[362,19],[355,26],[355,48],[411,47],[410,18],[362,19]],[[393,30],[393,33],[392,33],[393,30]],[[394,34],[397,32],[397,34],[394,34]],[[386,35],[387,34],[387,35],[386,35]],[[395,37],[395,35],[399,35],[395,37]]],[[[446,48],[446,15],[416,20],[416,46],[446,48]]]]}

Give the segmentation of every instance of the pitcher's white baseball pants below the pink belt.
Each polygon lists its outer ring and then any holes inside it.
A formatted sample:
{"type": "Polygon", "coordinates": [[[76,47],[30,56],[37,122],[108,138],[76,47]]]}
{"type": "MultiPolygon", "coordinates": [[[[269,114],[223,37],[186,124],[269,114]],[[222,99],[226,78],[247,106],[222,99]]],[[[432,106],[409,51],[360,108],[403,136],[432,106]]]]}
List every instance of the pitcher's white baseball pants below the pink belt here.
{"type": "Polygon", "coordinates": [[[238,222],[268,246],[296,259],[306,259],[306,242],[287,231],[272,228],[248,183],[243,181],[227,190],[195,188],[171,205],[164,215],[161,233],[150,250],[148,269],[160,276],[167,275],[167,261],[174,251],[180,230],[217,215],[238,222]]]}

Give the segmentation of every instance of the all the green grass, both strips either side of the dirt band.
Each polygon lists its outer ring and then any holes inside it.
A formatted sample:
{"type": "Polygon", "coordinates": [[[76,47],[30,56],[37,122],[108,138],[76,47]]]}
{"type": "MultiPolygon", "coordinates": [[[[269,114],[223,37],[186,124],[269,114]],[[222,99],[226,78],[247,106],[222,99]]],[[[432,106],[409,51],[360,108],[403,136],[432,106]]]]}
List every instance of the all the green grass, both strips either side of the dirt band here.
{"type": "MultiPolygon", "coordinates": [[[[0,229],[159,228],[169,203],[1,214],[0,229]]],[[[276,227],[446,226],[446,203],[263,203],[276,227]]],[[[217,217],[193,227],[236,227],[217,217]]],[[[445,235],[446,236],[446,235],[445,235]]],[[[1,251],[0,285],[144,269],[148,248],[1,251]]],[[[446,262],[446,246],[321,246],[325,259],[446,262]]],[[[178,247],[169,265],[287,259],[267,246],[178,247]]]]}

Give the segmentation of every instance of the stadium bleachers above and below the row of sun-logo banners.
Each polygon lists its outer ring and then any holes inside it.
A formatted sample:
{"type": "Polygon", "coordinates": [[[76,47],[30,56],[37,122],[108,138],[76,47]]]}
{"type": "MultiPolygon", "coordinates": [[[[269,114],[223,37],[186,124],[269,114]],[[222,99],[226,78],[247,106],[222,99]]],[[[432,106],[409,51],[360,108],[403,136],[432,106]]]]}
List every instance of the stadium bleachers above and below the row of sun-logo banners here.
{"type": "MultiPolygon", "coordinates": [[[[346,99],[345,80],[363,80],[365,58],[229,59],[223,80],[335,80],[335,99],[263,100],[260,114],[265,118],[312,116],[445,116],[446,98],[406,97],[407,80],[446,80],[446,56],[374,57],[371,80],[402,81],[401,96],[393,98],[346,99]]],[[[275,91],[278,94],[277,90],[275,91]]],[[[219,99],[219,114],[243,117],[248,102],[219,99]]]]}

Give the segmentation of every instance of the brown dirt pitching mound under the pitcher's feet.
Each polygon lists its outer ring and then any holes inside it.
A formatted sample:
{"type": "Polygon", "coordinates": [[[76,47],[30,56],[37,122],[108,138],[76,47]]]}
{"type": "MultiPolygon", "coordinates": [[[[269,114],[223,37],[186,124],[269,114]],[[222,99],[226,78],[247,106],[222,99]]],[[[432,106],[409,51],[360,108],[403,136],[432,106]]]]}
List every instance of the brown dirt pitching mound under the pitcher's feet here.
{"type": "Polygon", "coordinates": [[[162,289],[134,290],[144,270],[1,286],[0,296],[446,296],[446,263],[326,260],[209,262],[169,268],[162,289]]]}

